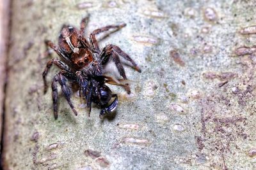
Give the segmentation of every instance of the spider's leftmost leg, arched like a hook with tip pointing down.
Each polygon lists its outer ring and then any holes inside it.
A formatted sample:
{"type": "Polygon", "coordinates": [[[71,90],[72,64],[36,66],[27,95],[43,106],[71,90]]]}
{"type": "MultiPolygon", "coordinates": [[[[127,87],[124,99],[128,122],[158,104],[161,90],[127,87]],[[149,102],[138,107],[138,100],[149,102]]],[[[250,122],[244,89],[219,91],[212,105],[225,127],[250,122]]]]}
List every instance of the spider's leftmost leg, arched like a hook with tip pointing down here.
{"type": "Polygon", "coordinates": [[[47,62],[47,65],[46,65],[46,67],[44,69],[44,72],[42,74],[43,80],[44,80],[44,93],[47,92],[47,87],[48,86],[47,86],[46,76],[47,76],[48,71],[51,68],[52,64],[55,64],[56,66],[60,67],[60,69],[64,69],[65,71],[70,73],[70,69],[69,69],[68,65],[65,64],[64,62],[62,62],[61,60],[59,60],[59,59],[51,59],[51,60],[49,60],[49,62],[47,62]]]}

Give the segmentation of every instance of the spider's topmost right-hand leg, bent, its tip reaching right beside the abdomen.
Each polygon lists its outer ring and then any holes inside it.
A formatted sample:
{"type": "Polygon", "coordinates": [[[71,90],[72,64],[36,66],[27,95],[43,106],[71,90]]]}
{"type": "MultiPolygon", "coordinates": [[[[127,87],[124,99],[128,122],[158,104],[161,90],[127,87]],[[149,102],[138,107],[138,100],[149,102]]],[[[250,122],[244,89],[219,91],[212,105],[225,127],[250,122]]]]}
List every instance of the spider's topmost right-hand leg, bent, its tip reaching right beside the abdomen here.
{"type": "Polygon", "coordinates": [[[100,29],[96,29],[90,34],[90,43],[93,48],[93,50],[97,53],[100,53],[100,48],[97,42],[97,39],[95,38],[95,35],[100,34],[101,32],[108,31],[109,29],[122,29],[122,27],[125,27],[126,24],[121,25],[108,25],[106,27],[102,27],[100,29]]]}

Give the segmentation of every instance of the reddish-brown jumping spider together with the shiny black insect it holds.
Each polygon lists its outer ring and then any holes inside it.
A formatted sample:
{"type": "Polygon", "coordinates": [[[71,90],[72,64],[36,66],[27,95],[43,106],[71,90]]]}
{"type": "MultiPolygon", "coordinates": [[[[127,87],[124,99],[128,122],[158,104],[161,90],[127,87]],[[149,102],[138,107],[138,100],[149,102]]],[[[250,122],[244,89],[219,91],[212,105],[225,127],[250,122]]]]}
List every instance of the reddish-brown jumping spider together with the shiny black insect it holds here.
{"type": "Polygon", "coordinates": [[[100,107],[100,117],[102,117],[106,113],[115,111],[118,104],[117,95],[112,94],[105,83],[120,85],[127,90],[128,94],[130,93],[128,83],[120,83],[120,81],[102,74],[104,66],[106,66],[109,60],[113,60],[118,72],[124,78],[123,80],[127,80],[127,77],[119,56],[131,62],[132,67],[136,71],[141,72],[141,69],[131,57],[123,52],[118,46],[107,45],[101,50],[97,39],[95,38],[95,36],[101,32],[109,31],[109,29],[116,29],[115,31],[117,31],[122,27],[125,27],[126,24],[108,25],[96,29],[90,34],[90,41],[87,41],[84,36],[84,29],[87,22],[88,17],[83,18],[79,30],[70,25],[63,25],[60,31],[58,45],[54,45],[51,41],[45,41],[46,45],[52,48],[61,57],[61,60],[49,60],[44,69],[44,73],[42,74],[44,78],[44,92],[46,92],[46,76],[52,64],[55,64],[61,69],[52,80],[52,103],[55,119],[58,118],[58,82],[60,83],[61,90],[75,115],[77,115],[77,111],[70,100],[72,89],[67,85],[67,81],[78,85],[80,97],[86,99],[89,115],[93,102],[100,107]],[[108,105],[112,97],[115,97],[115,99],[108,105]]]}

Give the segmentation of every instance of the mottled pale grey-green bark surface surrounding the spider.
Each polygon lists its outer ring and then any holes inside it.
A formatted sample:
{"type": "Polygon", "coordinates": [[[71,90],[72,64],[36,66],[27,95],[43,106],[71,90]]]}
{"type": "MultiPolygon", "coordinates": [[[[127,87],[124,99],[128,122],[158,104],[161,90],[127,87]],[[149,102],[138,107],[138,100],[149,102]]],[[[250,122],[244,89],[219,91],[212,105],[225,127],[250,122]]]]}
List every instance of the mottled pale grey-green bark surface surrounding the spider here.
{"type": "MultiPolygon", "coordinates": [[[[255,169],[255,1],[13,1],[6,99],[6,169],[255,169]],[[92,3],[93,2],[93,3],[92,3]],[[21,10],[22,9],[22,10],[21,10]],[[91,117],[63,97],[58,120],[51,89],[43,95],[44,40],[61,25],[86,32],[127,23],[102,46],[129,53],[142,73],[132,94],[111,86],[120,104],[113,120],[91,117]]],[[[54,54],[56,57],[56,55],[54,54]]],[[[52,69],[49,80],[58,69],[52,69]]]]}

